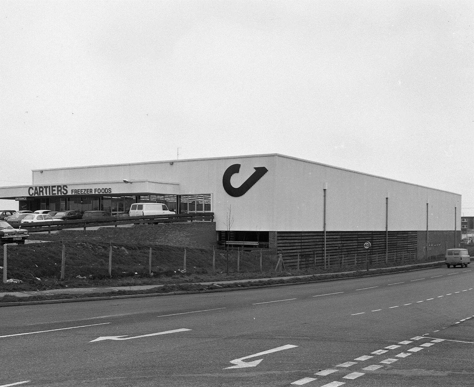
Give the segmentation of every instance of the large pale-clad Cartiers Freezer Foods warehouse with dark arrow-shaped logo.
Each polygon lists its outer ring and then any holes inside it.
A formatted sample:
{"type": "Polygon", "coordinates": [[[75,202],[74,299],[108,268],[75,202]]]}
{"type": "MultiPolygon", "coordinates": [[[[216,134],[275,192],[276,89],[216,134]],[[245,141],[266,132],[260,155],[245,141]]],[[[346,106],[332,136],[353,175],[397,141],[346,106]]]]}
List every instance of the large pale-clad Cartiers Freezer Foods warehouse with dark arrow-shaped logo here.
{"type": "Polygon", "coordinates": [[[217,241],[287,255],[363,252],[363,241],[380,254],[438,255],[460,240],[461,195],[281,154],[32,172],[31,185],[1,187],[0,198],[30,210],[115,214],[163,202],[177,213],[214,212],[217,241]]]}

